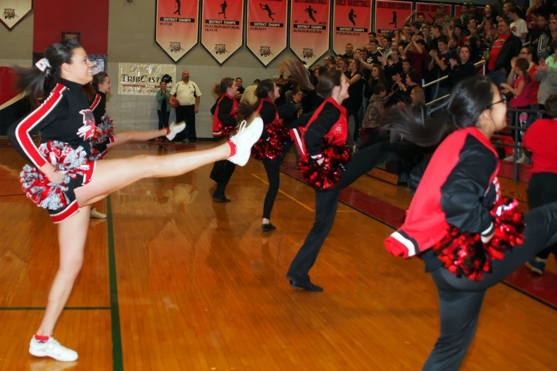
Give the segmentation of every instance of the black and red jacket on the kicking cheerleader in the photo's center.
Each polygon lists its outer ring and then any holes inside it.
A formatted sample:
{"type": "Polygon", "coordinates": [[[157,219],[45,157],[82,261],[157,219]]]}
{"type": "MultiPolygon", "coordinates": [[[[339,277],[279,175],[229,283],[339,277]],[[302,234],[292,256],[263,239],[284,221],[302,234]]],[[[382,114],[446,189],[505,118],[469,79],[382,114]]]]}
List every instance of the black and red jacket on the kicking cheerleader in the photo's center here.
{"type": "MultiPolygon", "coordinates": [[[[295,141],[302,154],[307,153],[309,156],[317,158],[322,152],[322,138],[336,146],[344,146],[348,137],[346,108],[336,100],[329,97],[313,113],[304,116],[309,117],[307,125],[294,131],[295,136],[299,135],[295,141]]],[[[297,120],[300,126],[304,116],[297,120]]]]}

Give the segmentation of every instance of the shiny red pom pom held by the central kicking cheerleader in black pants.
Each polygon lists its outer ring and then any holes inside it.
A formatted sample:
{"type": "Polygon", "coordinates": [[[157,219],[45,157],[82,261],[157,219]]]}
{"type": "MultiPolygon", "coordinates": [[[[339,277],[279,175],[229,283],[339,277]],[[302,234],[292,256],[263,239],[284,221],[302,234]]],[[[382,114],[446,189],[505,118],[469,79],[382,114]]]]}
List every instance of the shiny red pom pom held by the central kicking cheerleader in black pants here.
{"type": "Polygon", "coordinates": [[[322,139],[323,162],[321,165],[309,154],[299,158],[299,170],[304,176],[304,181],[320,190],[326,190],[339,183],[341,174],[346,170],[345,165],[350,161],[350,149],[331,144],[333,141],[334,137],[331,141],[322,139]]]}

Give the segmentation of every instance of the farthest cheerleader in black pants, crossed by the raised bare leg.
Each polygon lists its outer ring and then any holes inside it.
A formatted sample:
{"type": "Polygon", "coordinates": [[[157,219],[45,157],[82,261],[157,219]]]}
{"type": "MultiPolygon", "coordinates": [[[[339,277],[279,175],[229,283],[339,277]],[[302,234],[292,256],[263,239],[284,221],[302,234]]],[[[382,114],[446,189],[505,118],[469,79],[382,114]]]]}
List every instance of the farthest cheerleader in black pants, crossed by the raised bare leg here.
{"type": "MultiPolygon", "coordinates": [[[[238,102],[235,95],[238,93],[238,86],[232,77],[224,77],[220,84],[213,86],[213,92],[218,96],[217,101],[211,108],[213,114],[213,138],[216,141],[227,138],[228,134],[236,126],[236,112],[238,111],[238,102]]],[[[216,181],[217,187],[213,193],[213,200],[229,203],[224,193],[226,185],[234,169],[234,163],[227,160],[217,161],[213,165],[211,171],[211,179],[216,181]]]]}

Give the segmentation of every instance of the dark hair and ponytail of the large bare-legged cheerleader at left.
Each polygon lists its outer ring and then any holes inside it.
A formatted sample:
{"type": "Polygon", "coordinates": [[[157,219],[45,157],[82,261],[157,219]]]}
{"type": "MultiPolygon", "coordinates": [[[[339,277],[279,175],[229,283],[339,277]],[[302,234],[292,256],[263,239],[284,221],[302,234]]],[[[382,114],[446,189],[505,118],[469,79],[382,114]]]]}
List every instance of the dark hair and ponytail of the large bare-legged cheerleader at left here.
{"type": "Polygon", "coordinates": [[[33,106],[38,105],[38,98],[50,93],[58,84],[63,63],[72,63],[73,50],[77,48],[81,48],[81,45],[75,40],[64,40],[50,45],[45,50],[44,58],[51,67],[44,71],[35,65],[31,68],[14,67],[16,90],[26,94],[33,106]]]}

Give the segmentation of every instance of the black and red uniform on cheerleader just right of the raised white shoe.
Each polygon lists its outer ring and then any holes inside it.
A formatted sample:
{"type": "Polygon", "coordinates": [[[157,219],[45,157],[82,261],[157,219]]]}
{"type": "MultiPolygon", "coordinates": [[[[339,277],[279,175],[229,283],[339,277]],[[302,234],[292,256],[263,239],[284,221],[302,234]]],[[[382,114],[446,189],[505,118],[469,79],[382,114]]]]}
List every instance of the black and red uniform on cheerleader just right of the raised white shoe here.
{"type": "MultiPolygon", "coordinates": [[[[258,112],[263,120],[263,124],[267,129],[270,124],[282,125],[280,124],[279,120],[285,117],[291,117],[297,111],[297,107],[294,104],[283,104],[279,107],[276,106],[275,102],[268,98],[263,98],[260,100],[258,109],[255,112],[258,112]]],[[[263,130],[263,134],[261,136],[263,141],[268,139],[267,130],[263,130]]],[[[252,149],[253,151],[257,151],[258,144],[252,149]]],[[[265,166],[265,172],[267,173],[267,180],[269,181],[269,190],[267,190],[267,195],[265,195],[265,201],[263,203],[263,218],[270,220],[271,218],[271,211],[273,205],[275,205],[275,198],[277,198],[277,193],[280,186],[280,162],[281,158],[284,155],[285,148],[290,148],[287,146],[283,146],[281,149],[281,154],[279,156],[274,156],[273,158],[269,158],[270,154],[262,154],[262,162],[263,166],[265,166]]],[[[263,231],[275,230],[276,227],[271,223],[262,225],[263,231]]]]}

